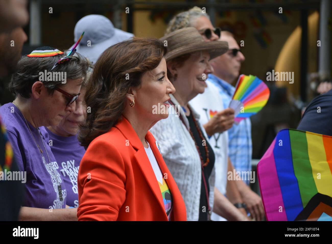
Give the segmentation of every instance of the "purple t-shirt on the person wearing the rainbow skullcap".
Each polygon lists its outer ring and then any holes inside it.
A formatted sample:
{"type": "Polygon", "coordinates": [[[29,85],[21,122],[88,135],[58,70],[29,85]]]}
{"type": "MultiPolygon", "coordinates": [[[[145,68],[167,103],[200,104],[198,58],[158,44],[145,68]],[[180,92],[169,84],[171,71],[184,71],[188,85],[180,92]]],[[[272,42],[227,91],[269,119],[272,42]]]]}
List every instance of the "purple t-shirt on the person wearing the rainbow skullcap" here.
{"type": "Polygon", "coordinates": [[[41,147],[42,156],[20,110],[10,102],[0,107],[0,114],[6,125],[18,168],[20,171],[26,171],[26,189],[22,206],[42,209],[65,208],[66,187],[59,165],[48,145],[45,128],[40,127],[41,139],[38,130],[28,122],[36,142],[41,147]],[[48,161],[44,145],[50,161],[48,161]],[[58,190],[59,184],[61,185],[62,201],[58,190]]]}

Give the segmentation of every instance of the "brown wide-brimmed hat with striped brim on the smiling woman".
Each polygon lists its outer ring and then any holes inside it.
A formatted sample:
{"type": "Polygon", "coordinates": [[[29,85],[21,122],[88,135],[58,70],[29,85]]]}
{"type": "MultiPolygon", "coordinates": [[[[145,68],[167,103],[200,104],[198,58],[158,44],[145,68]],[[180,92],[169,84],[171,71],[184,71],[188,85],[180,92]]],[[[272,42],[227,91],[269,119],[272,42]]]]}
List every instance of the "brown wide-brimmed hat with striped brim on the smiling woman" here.
{"type": "Polygon", "coordinates": [[[194,27],[175,30],[160,38],[167,41],[166,62],[187,53],[208,51],[210,60],[228,50],[227,41],[205,41],[203,36],[194,27]]]}

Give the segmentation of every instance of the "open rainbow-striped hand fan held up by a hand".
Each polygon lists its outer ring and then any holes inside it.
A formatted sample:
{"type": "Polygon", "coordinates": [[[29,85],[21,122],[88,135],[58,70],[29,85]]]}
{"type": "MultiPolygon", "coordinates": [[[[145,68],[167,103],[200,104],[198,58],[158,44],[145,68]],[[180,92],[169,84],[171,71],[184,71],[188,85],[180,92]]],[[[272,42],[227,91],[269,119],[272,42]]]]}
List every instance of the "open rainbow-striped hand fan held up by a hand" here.
{"type": "Polygon", "coordinates": [[[229,107],[235,111],[235,122],[249,118],[267,103],[270,90],[267,85],[252,75],[240,75],[229,107]]]}

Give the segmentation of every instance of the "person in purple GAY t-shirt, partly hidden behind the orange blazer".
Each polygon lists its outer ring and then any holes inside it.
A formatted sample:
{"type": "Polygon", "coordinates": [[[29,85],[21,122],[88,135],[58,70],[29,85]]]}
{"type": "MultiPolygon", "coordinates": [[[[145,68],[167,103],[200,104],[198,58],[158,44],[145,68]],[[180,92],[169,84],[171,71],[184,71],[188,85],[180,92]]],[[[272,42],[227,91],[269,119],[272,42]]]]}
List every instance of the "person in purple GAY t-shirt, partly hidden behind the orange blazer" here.
{"type": "Polygon", "coordinates": [[[82,84],[75,111],[67,113],[57,126],[45,127],[52,153],[58,163],[67,190],[67,205],[78,207],[77,174],[85,148],[77,140],[78,125],[85,121],[87,106],[84,102],[88,77],[82,84]]]}

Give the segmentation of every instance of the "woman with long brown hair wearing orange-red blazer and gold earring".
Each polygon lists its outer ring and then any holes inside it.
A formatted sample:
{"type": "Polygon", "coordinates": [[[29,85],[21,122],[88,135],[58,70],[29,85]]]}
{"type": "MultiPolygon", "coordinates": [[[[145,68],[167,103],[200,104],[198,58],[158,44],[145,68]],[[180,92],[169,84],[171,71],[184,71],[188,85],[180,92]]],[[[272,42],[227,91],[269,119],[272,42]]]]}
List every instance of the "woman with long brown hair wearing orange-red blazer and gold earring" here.
{"type": "Polygon", "coordinates": [[[166,52],[156,38],[132,38],[96,62],[79,134],[87,151],[77,178],[78,220],[186,220],[181,193],[148,131],[168,117],[175,92],[166,52]]]}

